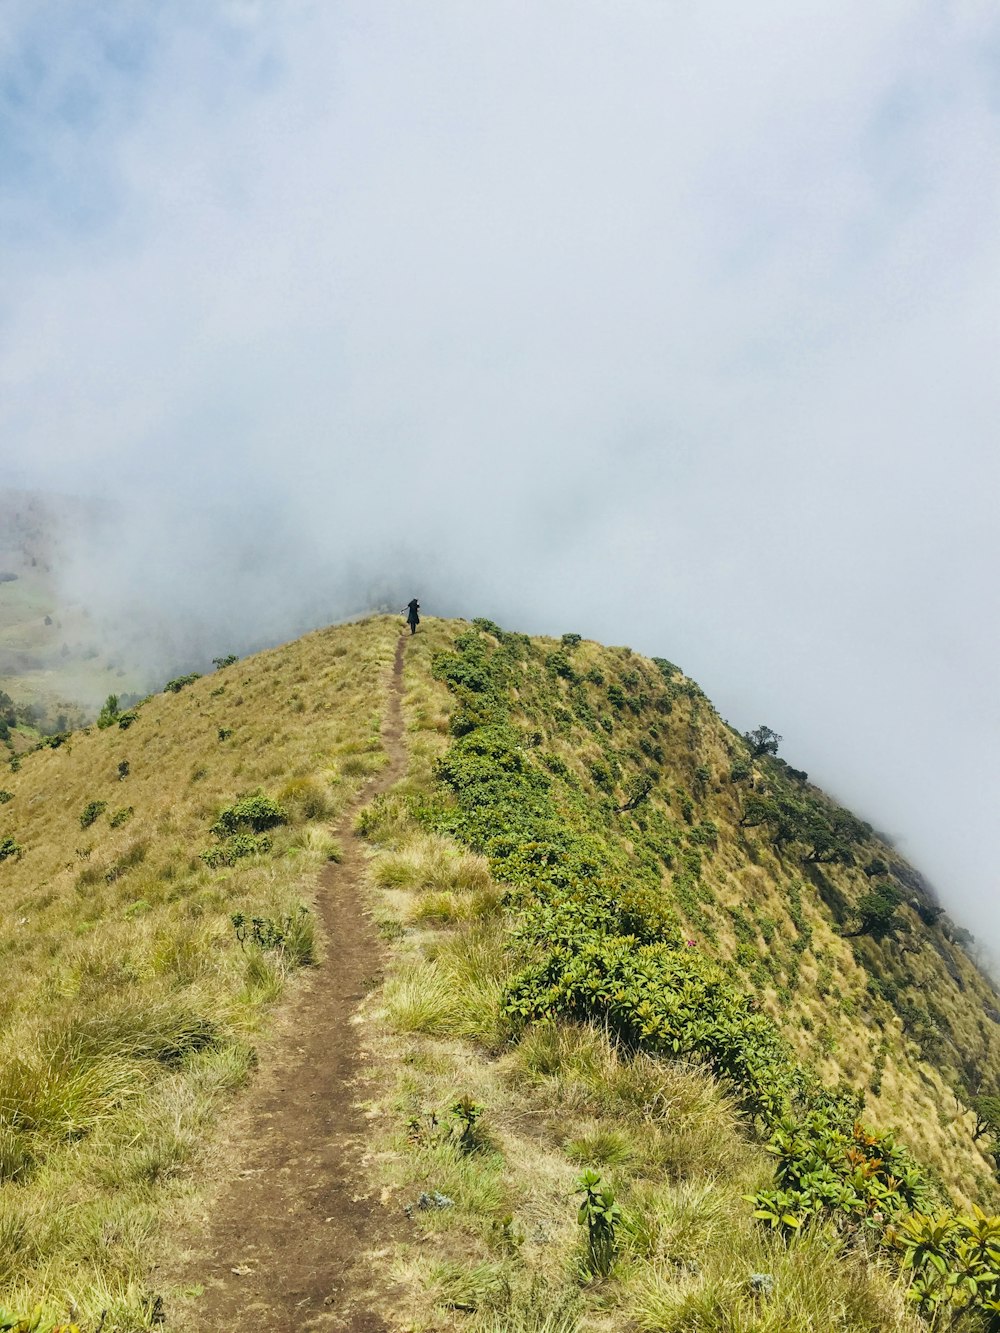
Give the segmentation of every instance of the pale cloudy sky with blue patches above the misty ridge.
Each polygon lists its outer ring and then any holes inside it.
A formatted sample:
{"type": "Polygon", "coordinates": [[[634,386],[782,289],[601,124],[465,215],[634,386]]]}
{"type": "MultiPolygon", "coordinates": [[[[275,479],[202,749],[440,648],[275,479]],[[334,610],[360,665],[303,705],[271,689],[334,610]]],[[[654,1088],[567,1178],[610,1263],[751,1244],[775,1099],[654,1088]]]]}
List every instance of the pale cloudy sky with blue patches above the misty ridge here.
{"type": "Polygon", "coordinates": [[[0,488],[171,665],[669,657],[1000,948],[999,201],[992,0],[5,0],[0,488]]]}

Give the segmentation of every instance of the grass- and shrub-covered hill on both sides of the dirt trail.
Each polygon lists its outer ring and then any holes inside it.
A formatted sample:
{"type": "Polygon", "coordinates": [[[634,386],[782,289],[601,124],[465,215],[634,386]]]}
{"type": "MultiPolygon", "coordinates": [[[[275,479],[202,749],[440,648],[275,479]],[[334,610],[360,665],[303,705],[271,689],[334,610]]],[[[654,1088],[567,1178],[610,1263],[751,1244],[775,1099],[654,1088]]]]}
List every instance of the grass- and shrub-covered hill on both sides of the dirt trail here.
{"type": "MultiPolygon", "coordinates": [[[[397,636],[173,681],[5,780],[0,1304],[204,1326],[151,1254],[183,1268],[264,1016],[336,949],[315,877],[387,762],[397,636]]],[[[404,647],[409,769],[355,822],[395,1322],[988,1326],[995,1233],[960,1216],[997,1202],[996,996],[919,873],[663,659],[488,621],[404,647]]]]}

